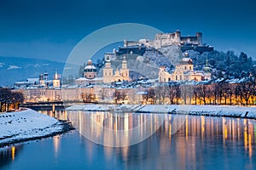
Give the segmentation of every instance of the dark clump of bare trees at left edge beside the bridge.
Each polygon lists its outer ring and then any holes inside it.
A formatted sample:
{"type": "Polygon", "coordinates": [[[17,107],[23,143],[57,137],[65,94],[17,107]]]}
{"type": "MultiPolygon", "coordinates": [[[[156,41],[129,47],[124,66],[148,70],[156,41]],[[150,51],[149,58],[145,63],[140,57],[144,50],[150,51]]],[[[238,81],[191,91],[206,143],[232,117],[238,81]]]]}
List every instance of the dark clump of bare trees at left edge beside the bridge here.
{"type": "Polygon", "coordinates": [[[24,96],[21,92],[0,88],[0,112],[19,109],[20,103],[23,101],[24,96]]]}

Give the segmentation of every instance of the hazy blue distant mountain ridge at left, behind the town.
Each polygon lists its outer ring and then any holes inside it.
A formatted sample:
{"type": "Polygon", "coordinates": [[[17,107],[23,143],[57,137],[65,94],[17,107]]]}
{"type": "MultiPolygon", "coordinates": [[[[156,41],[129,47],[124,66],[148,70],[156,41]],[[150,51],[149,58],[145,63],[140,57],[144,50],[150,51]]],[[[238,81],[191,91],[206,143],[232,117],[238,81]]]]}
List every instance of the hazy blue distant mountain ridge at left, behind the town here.
{"type": "Polygon", "coordinates": [[[64,63],[47,59],[0,56],[0,86],[11,86],[26,78],[37,78],[47,71],[51,79],[57,70],[62,74],[64,63]]]}

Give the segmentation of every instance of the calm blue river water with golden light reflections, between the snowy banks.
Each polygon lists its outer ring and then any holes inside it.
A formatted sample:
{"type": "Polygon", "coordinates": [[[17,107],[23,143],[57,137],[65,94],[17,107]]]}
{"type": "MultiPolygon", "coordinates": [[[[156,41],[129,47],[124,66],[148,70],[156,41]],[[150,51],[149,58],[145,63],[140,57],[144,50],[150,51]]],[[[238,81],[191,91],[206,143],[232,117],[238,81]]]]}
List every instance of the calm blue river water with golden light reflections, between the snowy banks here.
{"type": "Polygon", "coordinates": [[[137,113],[127,113],[126,119],[120,113],[41,112],[69,119],[78,130],[2,148],[0,169],[256,169],[255,120],[137,113]],[[136,132],[151,129],[153,134],[137,144],[128,138],[135,132],[113,139],[103,128],[126,132],[146,120],[136,132]]]}

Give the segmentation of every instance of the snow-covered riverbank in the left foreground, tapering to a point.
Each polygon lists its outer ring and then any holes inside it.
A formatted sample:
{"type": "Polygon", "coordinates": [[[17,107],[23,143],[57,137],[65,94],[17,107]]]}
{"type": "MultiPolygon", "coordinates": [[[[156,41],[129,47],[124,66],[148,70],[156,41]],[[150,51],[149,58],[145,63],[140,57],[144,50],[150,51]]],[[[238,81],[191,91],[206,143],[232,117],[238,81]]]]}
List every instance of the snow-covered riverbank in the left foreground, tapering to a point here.
{"type": "Polygon", "coordinates": [[[0,114],[0,147],[51,137],[72,129],[69,122],[58,121],[31,109],[3,113],[0,114]]]}

